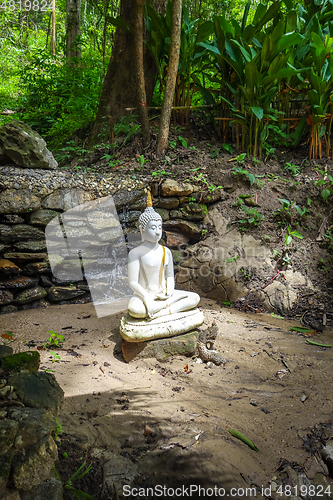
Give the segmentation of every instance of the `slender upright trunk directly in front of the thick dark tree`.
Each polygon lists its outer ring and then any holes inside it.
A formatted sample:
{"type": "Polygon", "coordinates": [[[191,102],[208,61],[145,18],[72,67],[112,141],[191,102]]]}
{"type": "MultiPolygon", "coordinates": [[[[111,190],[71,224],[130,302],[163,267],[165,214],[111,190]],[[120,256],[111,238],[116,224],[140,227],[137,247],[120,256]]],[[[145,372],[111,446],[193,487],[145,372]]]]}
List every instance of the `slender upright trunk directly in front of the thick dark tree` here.
{"type": "Polygon", "coordinates": [[[145,72],[143,64],[143,4],[144,0],[136,0],[136,19],[134,30],[135,63],[137,78],[137,97],[139,116],[142,128],[142,144],[146,148],[150,142],[148,107],[146,98],[145,72]]]}

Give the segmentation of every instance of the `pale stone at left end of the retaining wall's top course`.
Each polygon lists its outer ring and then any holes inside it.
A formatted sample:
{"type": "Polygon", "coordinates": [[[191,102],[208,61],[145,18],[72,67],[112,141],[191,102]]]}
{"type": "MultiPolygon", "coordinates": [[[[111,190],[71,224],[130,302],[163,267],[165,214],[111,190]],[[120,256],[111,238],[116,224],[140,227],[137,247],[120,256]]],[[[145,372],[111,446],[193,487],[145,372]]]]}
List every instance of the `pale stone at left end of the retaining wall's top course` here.
{"type": "MultiPolygon", "coordinates": [[[[7,189],[0,193],[0,214],[24,214],[30,210],[38,210],[38,208],[40,208],[40,199],[30,189],[17,189],[16,191],[7,189]]],[[[17,224],[12,221],[9,223],[17,224]]]]}

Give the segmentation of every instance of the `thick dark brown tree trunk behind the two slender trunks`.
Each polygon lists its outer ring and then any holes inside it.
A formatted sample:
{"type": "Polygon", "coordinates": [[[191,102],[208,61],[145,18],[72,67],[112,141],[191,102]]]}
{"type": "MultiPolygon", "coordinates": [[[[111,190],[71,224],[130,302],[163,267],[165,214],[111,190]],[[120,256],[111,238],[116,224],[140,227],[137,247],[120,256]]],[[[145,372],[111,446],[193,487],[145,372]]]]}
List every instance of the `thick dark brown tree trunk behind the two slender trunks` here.
{"type": "MultiPolygon", "coordinates": [[[[154,0],[151,4],[156,10],[163,12],[164,9],[165,12],[165,0],[154,0]]],[[[120,17],[127,24],[134,26],[135,0],[121,0],[120,17]]],[[[88,142],[89,148],[101,141],[107,141],[110,137],[112,138],[114,124],[126,114],[125,108],[135,108],[137,105],[136,78],[135,71],[133,71],[133,43],[132,31],[123,28],[116,29],[96,120],[88,142]]],[[[152,57],[146,57],[145,70],[146,96],[149,103],[156,83],[156,68],[152,57]]]]}

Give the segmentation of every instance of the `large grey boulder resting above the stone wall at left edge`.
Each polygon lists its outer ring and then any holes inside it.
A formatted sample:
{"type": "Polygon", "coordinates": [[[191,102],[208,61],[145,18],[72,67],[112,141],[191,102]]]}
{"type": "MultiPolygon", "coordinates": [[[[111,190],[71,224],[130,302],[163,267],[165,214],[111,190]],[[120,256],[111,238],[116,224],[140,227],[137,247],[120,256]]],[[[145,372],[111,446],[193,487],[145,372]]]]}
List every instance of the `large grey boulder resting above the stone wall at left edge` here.
{"type": "Polygon", "coordinates": [[[56,169],[58,163],[46,142],[26,123],[13,120],[0,128],[2,156],[20,167],[56,169]]]}

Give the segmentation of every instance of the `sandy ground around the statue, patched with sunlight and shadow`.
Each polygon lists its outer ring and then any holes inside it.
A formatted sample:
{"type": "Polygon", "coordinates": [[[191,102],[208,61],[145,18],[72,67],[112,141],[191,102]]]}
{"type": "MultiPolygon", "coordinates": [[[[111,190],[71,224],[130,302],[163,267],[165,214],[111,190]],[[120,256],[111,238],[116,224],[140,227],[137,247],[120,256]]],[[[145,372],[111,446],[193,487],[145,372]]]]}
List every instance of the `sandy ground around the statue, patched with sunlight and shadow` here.
{"type": "MultiPolygon", "coordinates": [[[[92,304],[1,316],[0,334],[14,334],[15,352],[31,341],[42,346],[50,330],[65,337],[63,349],[53,349],[60,360],[39,350],[41,369],[54,370],[65,392],[59,418],[65,435],[108,461],[106,498],[124,484],[226,490],[254,484],[260,498],[282,459],[306,463],[303,438],[332,419],[333,349],[290,332],[297,321],[221,309],[205,299],[201,308],[207,326],[217,322],[215,348],[225,368],[185,357],[126,364],[118,330],[123,313],[97,318],[92,304]],[[260,452],[228,429],[243,433],[260,452]]],[[[333,344],[332,330],[312,340],[333,344]]]]}

